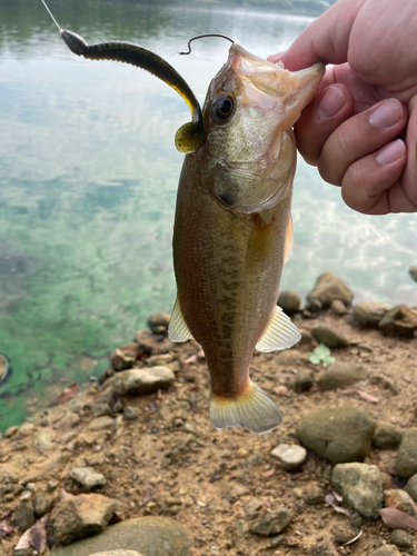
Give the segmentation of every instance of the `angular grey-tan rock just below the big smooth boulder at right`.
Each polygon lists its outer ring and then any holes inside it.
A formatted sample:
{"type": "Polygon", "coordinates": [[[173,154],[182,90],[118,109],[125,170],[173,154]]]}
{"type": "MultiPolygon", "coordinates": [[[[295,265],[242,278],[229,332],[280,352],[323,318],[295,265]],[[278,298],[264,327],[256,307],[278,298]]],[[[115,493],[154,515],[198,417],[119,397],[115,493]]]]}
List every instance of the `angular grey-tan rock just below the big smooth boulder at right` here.
{"type": "Polygon", "coordinates": [[[334,467],[331,483],[359,514],[371,519],[380,517],[383,478],[376,465],[338,464],[334,467]]]}

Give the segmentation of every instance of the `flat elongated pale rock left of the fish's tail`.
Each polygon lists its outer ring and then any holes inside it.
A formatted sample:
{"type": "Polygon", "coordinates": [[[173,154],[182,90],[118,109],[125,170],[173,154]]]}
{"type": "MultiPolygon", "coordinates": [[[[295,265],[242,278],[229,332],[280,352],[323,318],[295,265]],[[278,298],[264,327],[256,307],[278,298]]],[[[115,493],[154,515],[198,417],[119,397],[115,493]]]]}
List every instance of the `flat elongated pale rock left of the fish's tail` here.
{"type": "Polygon", "coordinates": [[[120,395],[151,394],[160,388],[169,388],[175,383],[175,374],[165,366],[130,369],[118,373],[112,378],[115,390],[120,395]]]}

